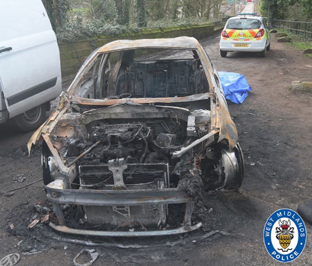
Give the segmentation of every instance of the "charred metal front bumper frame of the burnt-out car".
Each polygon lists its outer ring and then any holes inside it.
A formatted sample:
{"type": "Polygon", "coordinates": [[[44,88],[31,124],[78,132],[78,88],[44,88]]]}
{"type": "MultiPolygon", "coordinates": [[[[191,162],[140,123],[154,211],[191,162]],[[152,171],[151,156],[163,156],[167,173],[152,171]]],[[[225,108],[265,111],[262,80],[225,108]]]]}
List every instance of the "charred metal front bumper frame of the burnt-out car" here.
{"type": "Polygon", "coordinates": [[[182,234],[201,227],[201,223],[191,225],[193,212],[193,198],[182,188],[161,189],[133,189],[133,190],[95,190],[95,189],[66,189],[62,180],[56,180],[45,186],[47,198],[52,203],[58,224],[50,223],[57,231],[78,235],[107,236],[107,237],[136,237],[136,236],[160,236],[182,234]],[[184,221],[182,227],[170,230],[151,231],[97,231],[76,229],[66,226],[65,217],[61,205],[161,205],[161,204],[185,204],[184,221]]]}

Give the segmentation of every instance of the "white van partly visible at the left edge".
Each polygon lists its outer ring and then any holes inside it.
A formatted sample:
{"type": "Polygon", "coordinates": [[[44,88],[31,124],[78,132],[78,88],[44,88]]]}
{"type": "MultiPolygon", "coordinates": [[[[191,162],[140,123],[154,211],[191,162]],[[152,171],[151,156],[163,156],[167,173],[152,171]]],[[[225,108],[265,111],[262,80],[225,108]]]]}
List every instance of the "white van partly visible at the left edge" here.
{"type": "Polygon", "coordinates": [[[0,123],[39,127],[61,92],[59,47],[41,0],[0,1],[0,123]]]}

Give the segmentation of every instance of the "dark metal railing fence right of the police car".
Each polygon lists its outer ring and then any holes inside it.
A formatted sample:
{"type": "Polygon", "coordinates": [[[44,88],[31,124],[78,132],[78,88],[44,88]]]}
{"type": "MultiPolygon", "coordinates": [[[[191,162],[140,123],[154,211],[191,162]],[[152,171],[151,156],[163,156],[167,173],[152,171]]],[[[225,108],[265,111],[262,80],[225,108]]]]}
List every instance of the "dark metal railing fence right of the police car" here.
{"type": "Polygon", "coordinates": [[[286,29],[287,32],[312,40],[312,22],[273,20],[273,27],[286,29]]]}

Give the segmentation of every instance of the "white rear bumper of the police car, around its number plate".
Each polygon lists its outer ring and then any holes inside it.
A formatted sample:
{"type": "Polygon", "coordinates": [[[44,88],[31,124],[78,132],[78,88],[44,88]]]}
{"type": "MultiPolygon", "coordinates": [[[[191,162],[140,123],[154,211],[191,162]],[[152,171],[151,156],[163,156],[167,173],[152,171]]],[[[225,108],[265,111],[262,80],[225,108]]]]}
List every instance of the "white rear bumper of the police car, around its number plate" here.
{"type": "Polygon", "coordinates": [[[220,40],[220,50],[226,52],[261,52],[266,48],[266,39],[258,41],[220,40]],[[248,47],[234,47],[234,44],[248,44],[248,47]]]}

